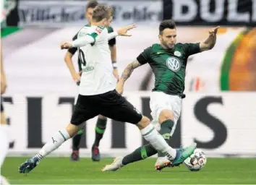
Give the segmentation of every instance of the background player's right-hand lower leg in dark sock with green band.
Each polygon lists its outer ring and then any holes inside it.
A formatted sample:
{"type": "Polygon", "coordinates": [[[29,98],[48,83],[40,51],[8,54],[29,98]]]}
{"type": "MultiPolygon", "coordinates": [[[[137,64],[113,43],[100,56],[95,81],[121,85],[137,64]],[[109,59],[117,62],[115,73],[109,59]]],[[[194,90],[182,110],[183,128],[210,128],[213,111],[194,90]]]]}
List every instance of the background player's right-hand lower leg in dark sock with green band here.
{"type": "Polygon", "coordinates": [[[95,126],[95,140],[92,147],[92,160],[93,161],[100,161],[101,160],[101,153],[99,150],[99,145],[103,134],[106,129],[107,118],[105,116],[99,115],[98,120],[95,126]]]}

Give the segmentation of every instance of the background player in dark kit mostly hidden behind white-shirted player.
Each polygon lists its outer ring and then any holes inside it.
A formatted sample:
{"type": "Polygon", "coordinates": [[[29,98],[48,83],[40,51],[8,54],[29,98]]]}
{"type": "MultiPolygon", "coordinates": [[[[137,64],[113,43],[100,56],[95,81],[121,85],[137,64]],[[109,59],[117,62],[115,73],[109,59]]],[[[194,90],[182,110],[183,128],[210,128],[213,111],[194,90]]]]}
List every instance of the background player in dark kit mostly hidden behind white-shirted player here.
{"type": "MultiPolygon", "coordinates": [[[[93,9],[95,9],[95,7],[97,7],[97,6],[98,6],[98,1],[95,1],[95,0],[89,1],[86,6],[85,15],[88,20],[88,25],[90,25],[90,23],[92,21],[93,9]]],[[[108,33],[113,33],[113,31],[114,30],[112,27],[108,27],[108,33]]],[[[72,40],[76,40],[76,39],[77,39],[77,34],[74,35],[74,38],[72,40]]],[[[116,38],[112,38],[111,40],[108,40],[108,46],[111,51],[113,74],[116,77],[116,79],[119,79],[119,72],[118,72],[117,65],[116,65],[116,38]]],[[[76,53],[76,52],[77,52],[77,48],[70,48],[66,53],[65,61],[69,68],[69,72],[71,73],[72,78],[74,79],[74,82],[76,82],[77,85],[79,85],[80,84],[80,75],[82,72],[80,58],[78,57],[78,68],[79,68],[78,73],[74,69],[74,66],[72,63],[72,56],[74,56],[74,53],[76,53]]],[[[93,161],[101,160],[99,145],[100,145],[100,141],[101,141],[103,134],[105,132],[105,129],[106,129],[106,123],[107,123],[107,118],[105,116],[99,115],[96,126],[95,126],[95,141],[94,141],[93,147],[91,149],[93,161]]],[[[73,137],[73,139],[72,139],[72,154],[70,156],[70,160],[77,161],[80,159],[79,149],[80,149],[80,141],[82,138],[82,134],[83,134],[83,129],[80,129],[80,131],[77,133],[77,135],[75,137],[73,137]]]]}

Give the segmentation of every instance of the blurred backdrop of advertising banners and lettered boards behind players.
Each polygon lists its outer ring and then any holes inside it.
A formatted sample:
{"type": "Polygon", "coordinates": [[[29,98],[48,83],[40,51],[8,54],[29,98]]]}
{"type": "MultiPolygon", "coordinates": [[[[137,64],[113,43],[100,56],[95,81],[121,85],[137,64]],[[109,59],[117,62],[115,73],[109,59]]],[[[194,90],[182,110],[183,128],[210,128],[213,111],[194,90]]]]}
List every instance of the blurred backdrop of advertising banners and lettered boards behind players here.
{"type": "MultiPolygon", "coordinates": [[[[64,62],[63,40],[87,24],[88,1],[1,1],[1,43],[7,74],[4,108],[12,127],[9,155],[31,155],[63,128],[72,114],[77,85],[64,62]]],[[[197,142],[208,156],[256,155],[256,1],[113,0],[114,30],[136,23],[131,38],[116,38],[119,74],[145,48],[158,43],[161,20],[173,19],[177,40],[195,43],[221,25],[211,51],[189,57],[183,111],[171,145],[197,142]]],[[[74,56],[77,67],[77,55],[74,56]]],[[[78,68],[78,67],[77,67],[78,68]]],[[[150,116],[154,77],[150,66],[136,69],[124,96],[150,116]]],[[[96,119],[85,126],[80,155],[89,156],[96,119]]],[[[145,141],[136,126],[108,119],[102,155],[132,152],[145,141]]],[[[71,142],[54,155],[69,155],[71,142]]]]}

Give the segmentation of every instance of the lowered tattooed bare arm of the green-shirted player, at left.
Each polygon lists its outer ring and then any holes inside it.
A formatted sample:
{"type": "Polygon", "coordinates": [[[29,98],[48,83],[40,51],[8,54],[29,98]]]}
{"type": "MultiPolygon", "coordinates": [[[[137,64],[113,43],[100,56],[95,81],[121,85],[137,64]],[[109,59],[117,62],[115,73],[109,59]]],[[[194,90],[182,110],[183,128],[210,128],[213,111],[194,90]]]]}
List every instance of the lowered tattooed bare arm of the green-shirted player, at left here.
{"type": "Polygon", "coordinates": [[[116,85],[116,91],[119,92],[119,94],[123,93],[124,82],[127,81],[127,79],[131,76],[133,70],[141,65],[142,64],[140,64],[139,61],[135,60],[124,69],[124,72],[121,74],[121,78],[119,79],[119,82],[116,85]]]}

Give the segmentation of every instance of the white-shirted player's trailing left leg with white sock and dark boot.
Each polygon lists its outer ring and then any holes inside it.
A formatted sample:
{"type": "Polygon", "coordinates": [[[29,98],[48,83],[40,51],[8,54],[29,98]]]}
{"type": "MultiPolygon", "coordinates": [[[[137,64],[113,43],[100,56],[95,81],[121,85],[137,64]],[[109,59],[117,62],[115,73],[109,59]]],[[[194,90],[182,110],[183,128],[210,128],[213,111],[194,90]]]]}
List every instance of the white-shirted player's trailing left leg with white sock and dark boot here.
{"type": "Polygon", "coordinates": [[[77,134],[77,132],[84,126],[84,124],[80,124],[76,126],[74,124],[68,124],[66,129],[59,130],[54,134],[51,139],[46,142],[46,145],[42,147],[42,149],[35,155],[33,158],[26,160],[25,163],[20,165],[19,171],[20,173],[29,173],[33,170],[46,155],[50,154],[58,147],[60,147],[64,142],[66,142],[71,137],[77,134]]]}

